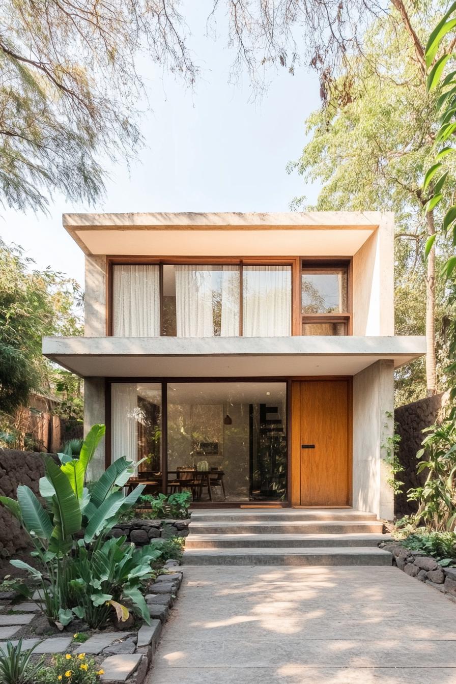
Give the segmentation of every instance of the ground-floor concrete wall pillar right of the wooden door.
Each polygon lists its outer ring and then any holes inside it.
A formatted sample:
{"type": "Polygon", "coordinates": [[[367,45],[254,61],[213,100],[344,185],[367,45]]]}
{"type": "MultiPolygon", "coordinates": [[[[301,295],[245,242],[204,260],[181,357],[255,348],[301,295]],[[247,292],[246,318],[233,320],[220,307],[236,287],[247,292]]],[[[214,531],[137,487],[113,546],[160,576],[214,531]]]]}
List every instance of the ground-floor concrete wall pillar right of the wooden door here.
{"type": "Polygon", "coordinates": [[[376,361],[353,377],[353,508],[392,520],[385,462],[394,427],[394,365],[376,361]]]}

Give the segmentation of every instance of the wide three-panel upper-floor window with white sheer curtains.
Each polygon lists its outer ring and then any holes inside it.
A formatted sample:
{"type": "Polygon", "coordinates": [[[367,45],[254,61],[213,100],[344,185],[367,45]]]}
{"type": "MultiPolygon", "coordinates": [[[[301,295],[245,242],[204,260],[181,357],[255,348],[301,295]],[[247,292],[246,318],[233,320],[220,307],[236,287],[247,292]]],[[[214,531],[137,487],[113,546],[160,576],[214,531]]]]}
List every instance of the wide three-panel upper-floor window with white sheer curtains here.
{"type": "Polygon", "coordinates": [[[291,265],[114,265],[112,333],[291,335],[291,265]]]}

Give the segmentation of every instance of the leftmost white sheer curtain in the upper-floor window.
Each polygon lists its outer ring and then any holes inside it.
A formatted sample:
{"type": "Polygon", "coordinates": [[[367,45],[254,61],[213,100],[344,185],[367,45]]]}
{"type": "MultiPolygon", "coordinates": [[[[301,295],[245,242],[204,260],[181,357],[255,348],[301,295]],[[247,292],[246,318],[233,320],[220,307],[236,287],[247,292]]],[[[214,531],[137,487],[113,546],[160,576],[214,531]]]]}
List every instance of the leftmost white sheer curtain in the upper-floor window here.
{"type": "Polygon", "coordinates": [[[114,266],[114,337],[159,337],[159,334],[159,266],[114,266]]]}

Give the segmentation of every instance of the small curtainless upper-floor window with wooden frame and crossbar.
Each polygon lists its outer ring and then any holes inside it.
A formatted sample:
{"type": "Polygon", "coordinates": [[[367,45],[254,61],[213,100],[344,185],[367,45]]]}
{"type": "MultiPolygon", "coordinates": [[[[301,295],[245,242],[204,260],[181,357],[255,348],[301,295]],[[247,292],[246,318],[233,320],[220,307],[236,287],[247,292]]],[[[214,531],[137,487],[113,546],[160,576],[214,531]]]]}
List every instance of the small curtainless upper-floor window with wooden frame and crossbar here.
{"type": "Polygon", "coordinates": [[[303,335],[349,333],[347,263],[303,262],[301,315],[303,335]]]}

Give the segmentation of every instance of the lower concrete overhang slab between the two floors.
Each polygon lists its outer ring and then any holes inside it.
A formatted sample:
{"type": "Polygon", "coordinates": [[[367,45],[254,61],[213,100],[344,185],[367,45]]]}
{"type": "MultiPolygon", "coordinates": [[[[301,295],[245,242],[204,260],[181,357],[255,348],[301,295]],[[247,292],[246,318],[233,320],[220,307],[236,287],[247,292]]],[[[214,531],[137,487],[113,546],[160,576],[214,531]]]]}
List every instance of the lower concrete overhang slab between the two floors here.
{"type": "Polygon", "coordinates": [[[353,376],[426,353],[425,337],[44,337],[44,356],[83,378],[353,376]]]}

